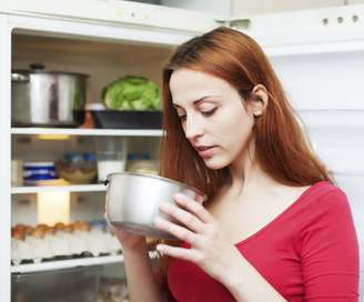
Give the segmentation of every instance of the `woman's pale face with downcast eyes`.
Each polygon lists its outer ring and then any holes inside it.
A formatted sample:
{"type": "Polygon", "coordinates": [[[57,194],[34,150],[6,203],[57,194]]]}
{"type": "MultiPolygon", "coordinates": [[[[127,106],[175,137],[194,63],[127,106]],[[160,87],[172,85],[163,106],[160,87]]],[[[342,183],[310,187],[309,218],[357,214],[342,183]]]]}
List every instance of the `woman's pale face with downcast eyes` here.
{"type": "Polygon", "coordinates": [[[244,157],[254,124],[253,108],[226,81],[191,69],[173,71],[173,105],[186,139],[210,169],[244,157]]]}

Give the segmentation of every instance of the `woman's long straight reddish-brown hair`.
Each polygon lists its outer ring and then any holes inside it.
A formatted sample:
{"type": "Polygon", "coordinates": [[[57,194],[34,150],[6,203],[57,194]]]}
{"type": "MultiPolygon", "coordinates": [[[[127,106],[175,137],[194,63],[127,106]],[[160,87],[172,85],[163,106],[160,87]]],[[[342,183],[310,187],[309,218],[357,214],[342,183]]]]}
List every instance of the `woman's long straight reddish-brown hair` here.
{"type": "Polygon", "coordinates": [[[170,91],[171,74],[180,68],[203,71],[228,81],[243,101],[252,98],[256,84],[263,84],[269,102],[253,128],[254,159],[270,177],[283,184],[301,187],[331,181],[260,46],[249,36],[224,27],[181,44],[163,70],[161,175],[200,189],[208,194],[209,201],[229,178],[228,168],[206,168],[184,135],[170,91]]]}

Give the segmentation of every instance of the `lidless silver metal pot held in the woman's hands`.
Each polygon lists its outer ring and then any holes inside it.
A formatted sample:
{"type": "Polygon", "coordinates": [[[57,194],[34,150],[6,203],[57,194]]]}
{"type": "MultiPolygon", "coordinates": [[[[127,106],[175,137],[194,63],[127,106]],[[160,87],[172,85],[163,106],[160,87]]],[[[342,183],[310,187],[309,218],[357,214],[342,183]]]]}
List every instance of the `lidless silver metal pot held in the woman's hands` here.
{"type": "Polygon", "coordinates": [[[206,199],[206,195],[195,188],[155,175],[131,172],[111,173],[105,184],[108,185],[107,219],[111,225],[132,233],[161,239],[175,239],[154,226],[155,217],[163,217],[159,211],[161,203],[174,203],[173,194],[178,192],[199,202],[206,199]]]}

